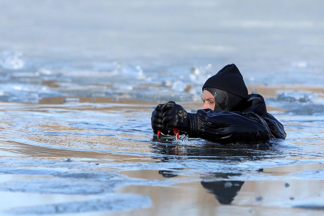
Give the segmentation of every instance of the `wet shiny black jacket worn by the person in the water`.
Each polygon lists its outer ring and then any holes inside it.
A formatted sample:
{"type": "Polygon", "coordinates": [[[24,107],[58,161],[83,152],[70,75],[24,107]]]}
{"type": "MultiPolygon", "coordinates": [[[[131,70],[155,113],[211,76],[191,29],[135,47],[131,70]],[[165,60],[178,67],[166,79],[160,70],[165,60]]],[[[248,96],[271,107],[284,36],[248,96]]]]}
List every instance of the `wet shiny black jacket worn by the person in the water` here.
{"type": "Polygon", "coordinates": [[[197,113],[188,113],[189,137],[219,143],[262,142],[271,138],[286,138],[284,126],[267,112],[261,95],[249,95],[247,107],[241,112],[199,109],[197,113]]]}

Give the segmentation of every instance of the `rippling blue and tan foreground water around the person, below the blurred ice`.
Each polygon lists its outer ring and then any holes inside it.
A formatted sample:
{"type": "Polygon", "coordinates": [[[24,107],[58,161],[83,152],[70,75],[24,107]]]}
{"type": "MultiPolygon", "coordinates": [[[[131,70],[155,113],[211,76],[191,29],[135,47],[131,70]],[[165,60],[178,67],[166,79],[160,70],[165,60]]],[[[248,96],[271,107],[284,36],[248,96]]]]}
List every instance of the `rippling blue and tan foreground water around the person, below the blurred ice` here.
{"type": "MultiPolygon", "coordinates": [[[[188,110],[200,105],[184,104],[188,110]]],[[[153,103],[1,105],[1,193],[34,197],[3,206],[7,213],[133,209],[151,215],[168,205],[192,214],[204,208],[205,214],[258,214],[260,208],[282,214],[323,206],[322,115],[273,110],[286,140],[220,145],[194,139],[178,145],[153,136],[153,103]],[[43,202],[42,194],[53,201],[43,202]]]]}

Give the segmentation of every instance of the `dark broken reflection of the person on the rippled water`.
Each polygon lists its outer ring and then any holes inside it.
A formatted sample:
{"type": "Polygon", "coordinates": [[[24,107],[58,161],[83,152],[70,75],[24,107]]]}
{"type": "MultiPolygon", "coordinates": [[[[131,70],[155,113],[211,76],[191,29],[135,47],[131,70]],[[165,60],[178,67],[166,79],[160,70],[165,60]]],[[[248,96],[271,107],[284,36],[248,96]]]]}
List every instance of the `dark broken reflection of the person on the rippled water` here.
{"type": "MultiPolygon", "coordinates": [[[[185,149],[179,151],[179,146],[166,145],[169,141],[158,140],[156,137],[153,138],[157,143],[151,145],[152,151],[165,155],[165,157],[158,157],[162,162],[168,162],[170,159],[174,160],[174,156],[203,156],[203,159],[208,158],[209,160],[224,160],[226,163],[241,162],[242,157],[244,160],[258,160],[262,156],[269,156],[269,152],[262,151],[251,151],[251,148],[258,150],[268,150],[269,146],[264,147],[249,147],[249,149],[226,149],[226,148],[213,148],[213,147],[194,147],[194,146],[184,146],[185,149]],[[230,158],[228,158],[230,157],[230,158]],[[229,162],[230,161],[230,162],[229,162]]],[[[158,173],[165,178],[172,178],[178,176],[178,171],[183,170],[183,168],[171,168],[171,170],[159,170],[158,173]]],[[[259,169],[259,172],[263,172],[263,169],[259,169]]],[[[207,190],[207,192],[215,195],[215,198],[221,204],[231,204],[235,196],[241,189],[244,181],[239,181],[239,173],[203,173],[200,175],[201,185],[207,190]],[[236,178],[232,180],[233,178],[236,178]],[[237,179],[238,178],[238,179],[237,179]]]]}

